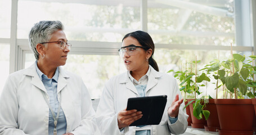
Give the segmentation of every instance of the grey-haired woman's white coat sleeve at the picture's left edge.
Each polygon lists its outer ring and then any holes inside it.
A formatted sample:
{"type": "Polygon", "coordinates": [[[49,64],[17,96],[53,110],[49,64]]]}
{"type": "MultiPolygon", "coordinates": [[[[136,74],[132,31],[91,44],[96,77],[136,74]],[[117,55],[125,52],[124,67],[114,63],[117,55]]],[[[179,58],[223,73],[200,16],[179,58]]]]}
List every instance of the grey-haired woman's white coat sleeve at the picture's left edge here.
{"type": "Polygon", "coordinates": [[[19,104],[17,101],[17,84],[11,77],[8,77],[0,96],[0,134],[25,134],[18,129],[17,115],[19,104]]]}

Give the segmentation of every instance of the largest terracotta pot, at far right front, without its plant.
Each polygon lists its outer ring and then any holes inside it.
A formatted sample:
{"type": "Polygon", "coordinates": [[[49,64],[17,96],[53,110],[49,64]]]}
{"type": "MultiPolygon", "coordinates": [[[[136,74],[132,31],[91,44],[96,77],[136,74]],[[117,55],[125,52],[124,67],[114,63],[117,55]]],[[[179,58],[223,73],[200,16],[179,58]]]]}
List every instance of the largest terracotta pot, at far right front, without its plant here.
{"type": "Polygon", "coordinates": [[[254,108],[251,99],[215,99],[217,105],[219,134],[253,135],[254,108]]]}

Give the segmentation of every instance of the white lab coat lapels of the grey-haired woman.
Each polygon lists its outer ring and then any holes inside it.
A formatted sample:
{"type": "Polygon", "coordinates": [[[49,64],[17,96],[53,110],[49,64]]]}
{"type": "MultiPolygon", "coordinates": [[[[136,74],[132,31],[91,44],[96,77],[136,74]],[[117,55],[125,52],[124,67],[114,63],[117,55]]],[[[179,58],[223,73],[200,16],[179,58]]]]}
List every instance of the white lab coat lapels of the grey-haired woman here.
{"type": "MultiPolygon", "coordinates": [[[[31,65],[29,68],[24,69],[24,75],[28,75],[28,76],[32,77],[31,83],[35,87],[37,87],[47,93],[42,80],[39,78],[39,75],[37,74],[37,71],[35,70],[35,64],[36,64],[36,62],[33,65],[31,65]]],[[[66,80],[67,78],[69,78],[69,76],[66,73],[66,71],[64,71],[62,69],[62,67],[59,66],[59,78],[58,78],[57,93],[59,93],[61,91],[61,89],[63,89],[66,86],[66,84],[68,83],[68,81],[66,80]]]]}

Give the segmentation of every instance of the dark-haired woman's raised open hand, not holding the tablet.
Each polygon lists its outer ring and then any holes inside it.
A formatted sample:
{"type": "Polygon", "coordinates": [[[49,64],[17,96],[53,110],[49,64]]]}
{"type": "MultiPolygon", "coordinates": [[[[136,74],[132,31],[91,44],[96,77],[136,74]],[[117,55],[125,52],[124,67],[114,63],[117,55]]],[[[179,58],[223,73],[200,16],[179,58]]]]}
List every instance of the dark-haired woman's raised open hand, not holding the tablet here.
{"type": "Polygon", "coordinates": [[[179,114],[179,106],[181,106],[183,98],[179,100],[179,95],[176,95],[175,99],[172,102],[172,105],[168,108],[168,115],[171,117],[177,117],[179,114]]]}

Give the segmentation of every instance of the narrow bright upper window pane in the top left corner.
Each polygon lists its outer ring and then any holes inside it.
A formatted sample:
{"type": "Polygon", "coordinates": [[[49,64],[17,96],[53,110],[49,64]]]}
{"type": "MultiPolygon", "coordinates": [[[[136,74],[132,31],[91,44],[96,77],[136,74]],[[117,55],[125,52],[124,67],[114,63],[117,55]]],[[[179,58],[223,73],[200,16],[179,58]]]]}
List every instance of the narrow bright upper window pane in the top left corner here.
{"type": "Polygon", "coordinates": [[[0,38],[10,38],[11,34],[11,2],[0,1],[0,38]]]}

